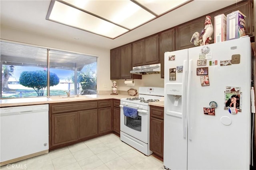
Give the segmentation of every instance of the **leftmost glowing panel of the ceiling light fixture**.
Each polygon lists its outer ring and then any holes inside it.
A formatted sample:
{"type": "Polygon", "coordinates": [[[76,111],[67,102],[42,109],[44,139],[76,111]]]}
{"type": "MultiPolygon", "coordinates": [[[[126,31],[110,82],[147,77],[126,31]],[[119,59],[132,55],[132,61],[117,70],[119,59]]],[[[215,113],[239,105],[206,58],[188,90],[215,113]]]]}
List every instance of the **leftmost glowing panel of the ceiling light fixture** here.
{"type": "Polygon", "coordinates": [[[58,1],[52,1],[54,6],[49,10],[46,19],[65,25],[83,29],[98,35],[115,38],[129,31],[123,27],[102,20],[76,8],[72,8],[58,1]]]}

